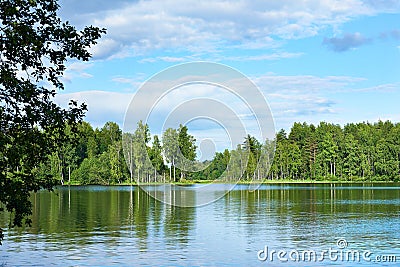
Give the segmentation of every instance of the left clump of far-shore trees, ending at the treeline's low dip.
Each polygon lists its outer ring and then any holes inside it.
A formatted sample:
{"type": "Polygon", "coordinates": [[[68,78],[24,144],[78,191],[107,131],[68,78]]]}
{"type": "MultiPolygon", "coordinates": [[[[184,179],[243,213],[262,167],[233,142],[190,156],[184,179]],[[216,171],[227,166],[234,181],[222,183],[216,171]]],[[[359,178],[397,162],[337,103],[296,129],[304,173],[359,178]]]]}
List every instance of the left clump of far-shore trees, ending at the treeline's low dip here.
{"type": "Polygon", "coordinates": [[[49,155],[38,168],[39,176],[50,173],[62,184],[170,182],[187,178],[185,168],[176,166],[190,169],[196,164],[196,140],[182,125],[165,131],[163,145],[157,135],[150,137],[148,125],[142,122],[134,133],[124,134],[114,122],[96,129],[82,122],[77,132],[67,127],[67,135],[71,142],[49,155]]]}

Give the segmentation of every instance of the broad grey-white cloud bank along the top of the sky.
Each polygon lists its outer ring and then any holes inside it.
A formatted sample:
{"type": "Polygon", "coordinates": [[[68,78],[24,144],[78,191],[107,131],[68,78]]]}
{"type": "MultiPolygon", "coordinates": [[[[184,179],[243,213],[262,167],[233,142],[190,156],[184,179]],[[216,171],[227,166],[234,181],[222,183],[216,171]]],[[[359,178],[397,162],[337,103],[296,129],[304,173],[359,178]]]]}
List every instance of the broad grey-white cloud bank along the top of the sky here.
{"type": "Polygon", "coordinates": [[[399,9],[399,5],[389,8],[361,0],[119,1],[112,6],[105,3],[102,9],[97,1],[93,5],[91,12],[89,7],[77,8],[66,15],[78,17],[76,12],[81,12],[80,20],[86,19],[81,23],[108,29],[105,39],[92,50],[95,58],[157,49],[210,52],[226,45],[273,47],[282,39],[315,36],[357,16],[399,9]]]}

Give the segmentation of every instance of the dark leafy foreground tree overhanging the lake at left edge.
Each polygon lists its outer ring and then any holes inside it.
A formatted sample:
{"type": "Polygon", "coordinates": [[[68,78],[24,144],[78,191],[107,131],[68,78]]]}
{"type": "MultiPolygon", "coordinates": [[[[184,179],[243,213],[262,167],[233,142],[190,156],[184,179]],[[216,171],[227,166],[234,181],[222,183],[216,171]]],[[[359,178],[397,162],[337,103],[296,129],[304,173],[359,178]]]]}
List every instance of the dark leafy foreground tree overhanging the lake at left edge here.
{"type": "Polygon", "coordinates": [[[52,101],[64,88],[65,62],[89,60],[88,48],[105,33],[93,26],[76,30],[61,21],[58,8],[56,0],[0,2],[0,202],[14,213],[16,226],[31,214],[30,192],[57,183],[34,173],[67,139],[66,125],[76,131],[86,109],[71,101],[66,110],[52,101]]]}

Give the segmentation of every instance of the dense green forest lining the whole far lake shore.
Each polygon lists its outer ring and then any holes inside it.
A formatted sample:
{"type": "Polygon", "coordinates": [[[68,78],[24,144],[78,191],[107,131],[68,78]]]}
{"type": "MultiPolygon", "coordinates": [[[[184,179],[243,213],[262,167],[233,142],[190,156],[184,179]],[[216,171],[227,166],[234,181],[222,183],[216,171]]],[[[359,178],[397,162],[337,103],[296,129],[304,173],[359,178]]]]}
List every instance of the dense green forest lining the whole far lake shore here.
{"type": "Polygon", "coordinates": [[[76,137],[49,155],[38,175],[51,173],[62,183],[79,184],[400,180],[400,124],[390,121],[344,127],[295,123],[289,134],[281,130],[275,140],[263,142],[248,135],[235,150],[217,152],[205,162],[196,160],[196,140],[182,125],[151,138],[142,122],[134,133],[122,133],[113,122],[100,129],[82,122],[76,137]]]}

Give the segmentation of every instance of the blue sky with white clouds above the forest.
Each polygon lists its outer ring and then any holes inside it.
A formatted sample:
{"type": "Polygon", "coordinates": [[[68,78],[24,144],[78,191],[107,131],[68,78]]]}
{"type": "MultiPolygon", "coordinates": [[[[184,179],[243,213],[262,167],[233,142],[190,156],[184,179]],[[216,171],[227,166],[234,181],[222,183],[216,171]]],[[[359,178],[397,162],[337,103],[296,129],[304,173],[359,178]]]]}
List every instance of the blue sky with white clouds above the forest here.
{"type": "MultiPolygon", "coordinates": [[[[124,127],[125,113],[146,82],[166,68],[193,61],[224,64],[248,77],[269,105],[265,114],[253,115],[271,115],[275,130],[289,131],[294,122],[400,121],[400,1],[59,3],[60,16],[78,29],[107,29],[91,48],[90,62],[67,63],[65,90],[56,97],[61,105],[69,99],[86,102],[86,120],[95,127],[107,121],[124,127]]],[[[159,102],[168,102],[160,108],[164,122],[190,96],[224,99],[223,105],[238,118],[248,112],[237,108],[240,99],[230,102],[227,91],[204,84],[189,87],[181,92],[166,89],[159,102]]],[[[140,112],[140,105],[134,108],[140,112]]],[[[193,105],[190,114],[195,118],[204,109],[206,105],[193,105]]],[[[198,140],[219,136],[214,145],[221,150],[230,135],[221,126],[225,122],[176,123],[191,123],[198,140]]],[[[149,123],[153,133],[159,134],[160,123],[149,123]]],[[[244,127],[257,136],[253,126],[244,127]]]]}

